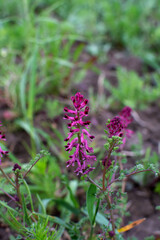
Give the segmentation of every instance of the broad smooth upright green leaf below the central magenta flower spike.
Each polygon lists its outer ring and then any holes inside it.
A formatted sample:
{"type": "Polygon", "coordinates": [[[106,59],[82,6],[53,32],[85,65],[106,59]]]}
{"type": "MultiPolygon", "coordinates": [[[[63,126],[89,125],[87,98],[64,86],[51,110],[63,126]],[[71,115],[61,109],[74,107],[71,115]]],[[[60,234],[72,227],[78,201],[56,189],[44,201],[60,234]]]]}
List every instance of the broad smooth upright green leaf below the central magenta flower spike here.
{"type": "Polygon", "coordinates": [[[86,196],[87,211],[91,224],[93,223],[94,220],[94,203],[96,200],[96,191],[97,187],[91,183],[91,185],[88,188],[86,196]]]}

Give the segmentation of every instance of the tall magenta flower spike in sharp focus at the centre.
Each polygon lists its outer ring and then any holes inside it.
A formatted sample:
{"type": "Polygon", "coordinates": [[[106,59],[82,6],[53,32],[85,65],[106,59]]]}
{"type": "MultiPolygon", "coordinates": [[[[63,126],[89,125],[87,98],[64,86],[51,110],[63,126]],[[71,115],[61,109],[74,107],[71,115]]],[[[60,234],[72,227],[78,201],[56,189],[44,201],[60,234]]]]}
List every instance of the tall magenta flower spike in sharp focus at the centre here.
{"type": "Polygon", "coordinates": [[[89,107],[86,106],[88,100],[81,95],[80,92],[76,93],[75,96],[71,97],[75,110],[70,110],[67,107],[64,108],[64,111],[71,114],[65,114],[64,119],[69,120],[68,128],[69,133],[68,137],[64,141],[68,142],[65,146],[65,150],[69,153],[75,148],[73,154],[69,156],[67,161],[67,167],[75,166],[75,173],[79,174],[88,174],[94,169],[92,167],[94,161],[96,161],[96,156],[89,155],[93,153],[93,148],[88,146],[88,140],[92,141],[94,139],[93,135],[90,135],[88,128],[90,121],[84,121],[83,117],[86,117],[89,112],[89,107]],[[82,109],[84,110],[82,111],[82,109]],[[72,138],[73,137],[73,138],[72,138]],[[87,139],[86,139],[87,138],[87,139]]]}

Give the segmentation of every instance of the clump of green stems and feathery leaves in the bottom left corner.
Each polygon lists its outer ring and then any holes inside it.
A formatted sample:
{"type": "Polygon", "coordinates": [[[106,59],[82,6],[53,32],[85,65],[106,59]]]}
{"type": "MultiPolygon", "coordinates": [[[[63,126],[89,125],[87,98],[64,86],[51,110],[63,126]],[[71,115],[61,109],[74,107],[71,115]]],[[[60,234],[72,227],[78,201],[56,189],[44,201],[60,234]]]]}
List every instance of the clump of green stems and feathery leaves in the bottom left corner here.
{"type": "MultiPolygon", "coordinates": [[[[50,223],[52,223],[52,225],[53,223],[56,223],[61,226],[66,226],[63,220],[61,221],[61,219],[58,217],[53,217],[46,214],[46,206],[43,205],[43,202],[39,196],[37,203],[40,204],[43,211],[42,213],[35,211],[35,209],[38,207],[38,204],[35,204],[35,202],[33,203],[31,187],[24,180],[24,177],[28,175],[33,166],[38,164],[37,162],[40,160],[40,158],[46,156],[48,156],[48,152],[43,150],[40,154],[37,154],[35,159],[32,160],[28,166],[26,166],[26,169],[23,169],[25,170],[23,175],[21,173],[22,169],[14,172],[15,179],[13,179],[14,189],[12,190],[12,193],[10,193],[10,191],[8,193],[6,190],[3,190],[3,192],[15,202],[16,207],[14,205],[11,207],[5,201],[0,201],[0,217],[9,226],[15,229],[17,233],[19,233],[17,239],[21,239],[22,236],[28,240],[40,238],[45,240],[58,239],[57,236],[60,236],[62,233],[60,233],[60,231],[57,229],[52,228],[51,230],[50,223]],[[17,196],[18,200],[15,200],[10,194],[17,196]]],[[[5,177],[6,175],[3,174],[3,176],[5,177]]],[[[9,178],[7,177],[7,179],[9,178]]],[[[9,182],[11,183],[11,179],[9,182]]]]}

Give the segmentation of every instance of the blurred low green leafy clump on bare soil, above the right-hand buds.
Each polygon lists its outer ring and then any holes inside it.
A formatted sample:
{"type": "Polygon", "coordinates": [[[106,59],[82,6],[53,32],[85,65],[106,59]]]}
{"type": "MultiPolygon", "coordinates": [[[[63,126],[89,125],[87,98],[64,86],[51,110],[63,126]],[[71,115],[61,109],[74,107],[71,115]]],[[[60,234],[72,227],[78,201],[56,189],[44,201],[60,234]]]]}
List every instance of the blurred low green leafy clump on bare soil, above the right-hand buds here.
{"type": "Polygon", "coordinates": [[[117,79],[117,86],[112,86],[107,80],[104,83],[106,89],[111,92],[111,97],[108,100],[110,104],[117,101],[123,106],[142,109],[147,107],[148,103],[159,98],[159,88],[148,85],[145,79],[139,77],[136,72],[119,68],[117,79]]]}

